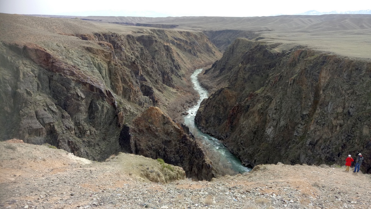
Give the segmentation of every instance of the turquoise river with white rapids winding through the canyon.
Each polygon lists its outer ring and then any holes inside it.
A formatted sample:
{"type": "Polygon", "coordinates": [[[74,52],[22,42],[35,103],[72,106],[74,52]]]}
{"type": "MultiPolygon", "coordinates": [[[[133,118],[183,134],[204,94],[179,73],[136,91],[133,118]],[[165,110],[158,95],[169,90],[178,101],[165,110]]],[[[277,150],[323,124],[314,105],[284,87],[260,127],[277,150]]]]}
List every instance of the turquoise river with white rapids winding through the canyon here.
{"type": "Polygon", "coordinates": [[[200,99],[198,100],[197,104],[194,105],[192,108],[190,108],[187,112],[188,114],[184,116],[184,123],[190,128],[192,133],[200,137],[203,141],[202,143],[205,144],[209,149],[212,149],[218,153],[220,153],[220,160],[222,162],[229,163],[229,167],[232,168],[234,171],[239,173],[248,172],[251,169],[243,166],[241,164],[241,161],[238,157],[236,157],[234,154],[230,153],[230,151],[224,146],[223,143],[221,143],[217,138],[214,138],[208,134],[202,133],[201,130],[199,130],[196,127],[196,124],[194,123],[194,117],[196,116],[197,110],[200,107],[201,101],[206,99],[209,95],[209,92],[205,88],[203,88],[200,83],[198,82],[198,74],[202,72],[203,69],[197,69],[194,71],[194,73],[191,75],[191,81],[193,83],[193,88],[198,92],[200,95],[200,99]]]}

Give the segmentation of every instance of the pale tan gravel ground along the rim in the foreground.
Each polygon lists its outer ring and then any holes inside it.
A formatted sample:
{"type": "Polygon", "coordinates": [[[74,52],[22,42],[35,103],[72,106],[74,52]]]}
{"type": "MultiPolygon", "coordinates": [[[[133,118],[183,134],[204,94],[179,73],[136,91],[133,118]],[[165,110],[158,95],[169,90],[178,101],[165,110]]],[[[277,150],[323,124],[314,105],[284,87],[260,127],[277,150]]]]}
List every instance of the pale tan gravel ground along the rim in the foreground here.
{"type": "Polygon", "coordinates": [[[141,156],[97,163],[7,142],[0,153],[0,208],[371,208],[370,175],[339,166],[260,165],[211,182],[161,183],[141,175],[158,164],[141,156]]]}

